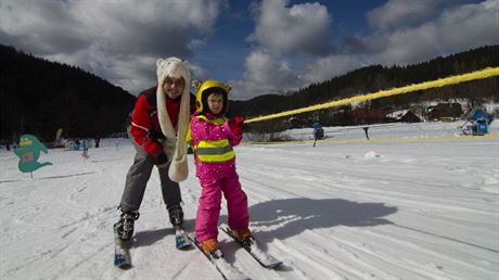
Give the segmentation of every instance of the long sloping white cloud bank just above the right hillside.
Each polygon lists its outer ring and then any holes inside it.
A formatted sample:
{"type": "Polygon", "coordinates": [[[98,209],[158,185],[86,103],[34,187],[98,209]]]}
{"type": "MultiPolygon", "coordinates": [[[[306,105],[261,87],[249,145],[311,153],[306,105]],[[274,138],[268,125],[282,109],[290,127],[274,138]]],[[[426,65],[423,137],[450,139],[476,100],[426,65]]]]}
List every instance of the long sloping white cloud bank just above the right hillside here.
{"type": "Polygon", "coordinates": [[[499,0],[450,7],[433,21],[415,26],[400,23],[398,28],[356,37],[355,47],[345,48],[348,52],[309,63],[302,77],[310,82],[321,81],[364,65],[407,65],[471,48],[498,44],[498,26],[499,0]]]}

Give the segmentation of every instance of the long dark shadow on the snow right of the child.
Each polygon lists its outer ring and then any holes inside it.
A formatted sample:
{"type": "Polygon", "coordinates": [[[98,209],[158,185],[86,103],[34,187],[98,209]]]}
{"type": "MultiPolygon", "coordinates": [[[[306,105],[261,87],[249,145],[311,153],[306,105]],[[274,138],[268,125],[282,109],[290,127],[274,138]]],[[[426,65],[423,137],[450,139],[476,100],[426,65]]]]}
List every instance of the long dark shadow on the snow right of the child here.
{"type": "MultiPolygon", "coordinates": [[[[396,212],[397,207],[384,203],[358,203],[341,199],[273,200],[250,207],[250,226],[266,228],[265,231],[255,232],[265,245],[272,239],[287,239],[305,230],[393,225],[383,217],[396,212]]],[[[226,218],[223,216],[220,220],[226,218]]]]}

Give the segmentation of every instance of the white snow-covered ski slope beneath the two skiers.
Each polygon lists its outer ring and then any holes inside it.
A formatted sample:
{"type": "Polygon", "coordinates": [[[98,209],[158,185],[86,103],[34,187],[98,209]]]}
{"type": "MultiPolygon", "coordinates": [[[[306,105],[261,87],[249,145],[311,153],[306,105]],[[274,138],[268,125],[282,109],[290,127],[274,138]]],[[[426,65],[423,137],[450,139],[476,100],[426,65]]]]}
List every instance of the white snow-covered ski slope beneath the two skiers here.
{"type": "MultiPolygon", "coordinates": [[[[251,227],[284,262],[267,270],[220,236],[252,279],[499,279],[499,128],[456,137],[457,123],[325,128],[298,143],[236,148],[251,227]]],[[[156,173],[136,222],[135,267],[113,267],[112,225],[133,157],[126,139],[50,150],[29,174],[0,152],[0,279],[221,279],[196,250],[175,249],[156,173]]],[[[192,230],[197,179],[181,184],[192,230]]],[[[226,217],[223,213],[221,220],[226,217]]]]}

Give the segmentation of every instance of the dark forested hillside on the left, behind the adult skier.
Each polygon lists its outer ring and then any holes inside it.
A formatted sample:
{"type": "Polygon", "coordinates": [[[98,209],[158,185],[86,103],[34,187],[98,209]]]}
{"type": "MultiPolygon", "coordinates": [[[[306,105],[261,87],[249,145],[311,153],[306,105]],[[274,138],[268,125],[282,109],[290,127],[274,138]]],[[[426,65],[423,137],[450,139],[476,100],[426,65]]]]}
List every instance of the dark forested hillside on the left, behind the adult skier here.
{"type": "Polygon", "coordinates": [[[104,137],[123,131],[136,97],[66,64],[35,58],[0,44],[0,139],[23,133],[42,141],[104,137]]]}

